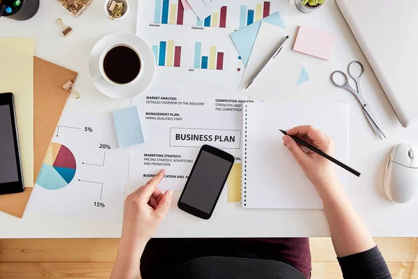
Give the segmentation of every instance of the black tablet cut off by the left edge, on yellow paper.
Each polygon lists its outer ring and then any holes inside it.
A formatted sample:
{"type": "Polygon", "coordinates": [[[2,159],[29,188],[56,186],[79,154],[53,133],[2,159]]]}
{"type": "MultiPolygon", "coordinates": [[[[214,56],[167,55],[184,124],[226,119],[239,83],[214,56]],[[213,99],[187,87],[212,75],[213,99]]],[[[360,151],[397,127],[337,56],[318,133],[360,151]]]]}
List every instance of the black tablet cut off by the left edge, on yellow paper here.
{"type": "Polygon", "coordinates": [[[0,195],[24,190],[12,93],[0,93],[0,195]]]}

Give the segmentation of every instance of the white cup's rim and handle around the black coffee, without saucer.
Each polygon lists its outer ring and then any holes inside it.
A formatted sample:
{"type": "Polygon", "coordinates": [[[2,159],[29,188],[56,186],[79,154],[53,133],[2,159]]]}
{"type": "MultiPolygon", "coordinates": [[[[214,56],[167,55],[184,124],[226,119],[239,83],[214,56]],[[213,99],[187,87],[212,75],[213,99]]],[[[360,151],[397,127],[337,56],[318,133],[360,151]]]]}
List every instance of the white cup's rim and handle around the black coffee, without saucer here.
{"type": "Polygon", "coordinates": [[[106,47],[104,49],[104,51],[102,52],[102,54],[100,55],[100,59],[99,59],[100,75],[95,75],[94,77],[91,78],[91,80],[93,82],[100,82],[102,80],[105,80],[106,82],[109,82],[110,84],[114,84],[116,86],[132,86],[132,85],[136,84],[137,82],[139,82],[139,80],[141,80],[141,76],[144,73],[143,65],[144,65],[144,63],[143,63],[143,60],[142,60],[142,56],[139,53],[139,51],[133,45],[130,45],[128,43],[115,43],[113,45],[109,45],[109,47],[106,47]],[[107,53],[110,50],[114,49],[115,47],[129,47],[131,50],[133,50],[137,54],[137,56],[139,58],[139,65],[140,66],[139,66],[139,73],[138,73],[137,77],[134,78],[134,80],[132,80],[130,82],[127,82],[127,83],[124,83],[124,84],[121,84],[121,83],[114,82],[113,80],[111,80],[106,75],[106,73],[104,73],[104,57],[106,57],[107,53]]]}

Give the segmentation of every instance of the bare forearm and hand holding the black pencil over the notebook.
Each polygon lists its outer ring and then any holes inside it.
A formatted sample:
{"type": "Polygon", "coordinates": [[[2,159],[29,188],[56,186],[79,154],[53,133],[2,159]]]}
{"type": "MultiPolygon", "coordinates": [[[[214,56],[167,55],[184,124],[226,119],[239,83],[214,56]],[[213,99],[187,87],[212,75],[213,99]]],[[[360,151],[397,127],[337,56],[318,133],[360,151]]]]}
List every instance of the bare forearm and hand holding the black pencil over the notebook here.
{"type": "MultiPolygon", "coordinates": [[[[312,126],[295,127],[287,133],[302,138],[330,156],[334,153],[334,141],[312,126]]],[[[284,136],[283,140],[323,200],[337,257],[364,252],[376,246],[341,187],[334,163],[313,151],[305,153],[289,136],[284,136]]]]}

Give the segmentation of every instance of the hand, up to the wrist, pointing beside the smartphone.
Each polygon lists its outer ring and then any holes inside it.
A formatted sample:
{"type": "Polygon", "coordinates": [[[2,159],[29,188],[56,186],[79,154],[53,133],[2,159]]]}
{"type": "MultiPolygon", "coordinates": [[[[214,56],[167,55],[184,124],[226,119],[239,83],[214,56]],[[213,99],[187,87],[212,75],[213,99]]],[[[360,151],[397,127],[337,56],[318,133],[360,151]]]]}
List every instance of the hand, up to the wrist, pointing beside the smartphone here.
{"type": "Polygon", "coordinates": [[[164,179],[164,174],[162,169],[144,186],[127,196],[123,211],[121,243],[126,243],[131,248],[144,248],[160,226],[170,209],[173,197],[172,190],[163,194],[157,188],[164,179]]]}

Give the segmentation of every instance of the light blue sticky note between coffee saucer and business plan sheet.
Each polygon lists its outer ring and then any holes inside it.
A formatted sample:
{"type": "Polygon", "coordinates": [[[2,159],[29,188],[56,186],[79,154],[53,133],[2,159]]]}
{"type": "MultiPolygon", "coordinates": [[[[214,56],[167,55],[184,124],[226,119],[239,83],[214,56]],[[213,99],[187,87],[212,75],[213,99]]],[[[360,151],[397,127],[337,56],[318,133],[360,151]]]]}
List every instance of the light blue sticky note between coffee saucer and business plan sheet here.
{"type": "Polygon", "coordinates": [[[138,107],[127,107],[112,112],[120,147],[144,142],[138,107]]]}

